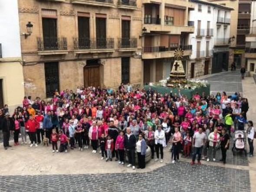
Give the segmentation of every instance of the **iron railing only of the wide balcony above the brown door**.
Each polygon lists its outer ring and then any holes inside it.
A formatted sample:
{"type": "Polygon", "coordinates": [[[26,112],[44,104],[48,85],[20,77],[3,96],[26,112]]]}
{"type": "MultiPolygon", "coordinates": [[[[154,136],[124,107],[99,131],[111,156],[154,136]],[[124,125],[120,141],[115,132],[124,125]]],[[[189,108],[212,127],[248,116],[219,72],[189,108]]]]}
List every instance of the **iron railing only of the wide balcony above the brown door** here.
{"type": "Polygon", "coordinates": [[[114,49],[114,38],[73,38],[74,49],[114,49]]]}

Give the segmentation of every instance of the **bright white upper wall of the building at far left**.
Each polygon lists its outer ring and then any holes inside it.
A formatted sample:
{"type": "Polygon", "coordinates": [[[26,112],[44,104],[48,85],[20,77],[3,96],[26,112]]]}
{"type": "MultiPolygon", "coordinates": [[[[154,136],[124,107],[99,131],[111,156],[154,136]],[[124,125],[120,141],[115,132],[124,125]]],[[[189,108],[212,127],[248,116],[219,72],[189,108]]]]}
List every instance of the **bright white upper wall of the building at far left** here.
{"type": "Polygon", "coordinates": [[[17,0],[0,0],[0,25],[3,58],[21,57],[17,0]]]}

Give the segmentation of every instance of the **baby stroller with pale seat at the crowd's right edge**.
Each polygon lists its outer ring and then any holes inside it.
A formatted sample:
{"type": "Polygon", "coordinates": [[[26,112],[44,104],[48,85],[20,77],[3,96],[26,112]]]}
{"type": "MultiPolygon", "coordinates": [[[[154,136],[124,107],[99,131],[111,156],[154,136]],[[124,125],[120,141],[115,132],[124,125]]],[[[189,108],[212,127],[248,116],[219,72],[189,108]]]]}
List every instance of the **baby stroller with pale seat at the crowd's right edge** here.
{"type": "Polygon", "coordinates": [[[245,134],[242,130],[236,130],[235,131],[235,136],[234,136],[234,143],[233,143],[233,148],[232,152],[233,155],[236,155],[236,151],[239,151],[242,153],[244,151],[245,156],[247,155],[246,149],[245,149],[245,144],[246,144],[246,138],[245,134]]]}

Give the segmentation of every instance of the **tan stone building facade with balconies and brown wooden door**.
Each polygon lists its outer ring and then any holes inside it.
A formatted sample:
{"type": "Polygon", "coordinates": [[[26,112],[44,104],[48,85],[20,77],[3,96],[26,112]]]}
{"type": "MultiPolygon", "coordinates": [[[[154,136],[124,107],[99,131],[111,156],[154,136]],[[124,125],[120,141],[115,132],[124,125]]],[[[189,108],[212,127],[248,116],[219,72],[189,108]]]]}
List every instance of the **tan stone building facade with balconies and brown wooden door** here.
{"type": "Polygon", "coordinates": [[[141,1],[19,0],[25,95],[142,84],[141,1]]]}

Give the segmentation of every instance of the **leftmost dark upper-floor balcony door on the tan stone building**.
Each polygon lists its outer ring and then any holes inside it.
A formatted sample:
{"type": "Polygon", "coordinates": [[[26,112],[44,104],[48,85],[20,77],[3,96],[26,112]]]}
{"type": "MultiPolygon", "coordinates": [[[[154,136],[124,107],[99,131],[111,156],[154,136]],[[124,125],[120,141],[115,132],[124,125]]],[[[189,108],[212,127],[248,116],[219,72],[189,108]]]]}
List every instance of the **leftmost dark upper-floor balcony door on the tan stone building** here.
{"type": "Polygon", "coordinates": [[[44,50],[58,49],[57,20],[52,18],[43,18],[42,25],[44,50]]]}

